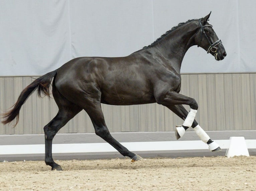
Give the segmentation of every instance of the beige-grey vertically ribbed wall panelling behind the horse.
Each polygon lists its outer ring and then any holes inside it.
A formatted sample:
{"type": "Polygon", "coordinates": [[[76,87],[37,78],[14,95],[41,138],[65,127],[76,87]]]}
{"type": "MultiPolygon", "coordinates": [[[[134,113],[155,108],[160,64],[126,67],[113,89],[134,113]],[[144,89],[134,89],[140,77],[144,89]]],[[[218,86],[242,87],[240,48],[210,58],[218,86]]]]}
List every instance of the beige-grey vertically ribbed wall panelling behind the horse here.
{"type": "MultiPolygon", "coordinates": [[[[182,74],[181,77],[180,93],[197,100],[196,119],[205,130],[256,130],[256,73],[182,74]]],[[[10,108],[32,81],[30,77],[0,77],[1,112],[10,108]]],[[[182,124],[180,118],[158,104],[102,104],[102,108],[111,132],[173,131],[175,125],[182,124]]],[[[38,98],[34,93],[21,108],[17,126],[0,124],[0,134],[43,133],[43,126],[56,113],[52,98],[38,98]]],[[[81,111],[59,132],[94,132],[94,129],[86,112],[81,111]]]]}

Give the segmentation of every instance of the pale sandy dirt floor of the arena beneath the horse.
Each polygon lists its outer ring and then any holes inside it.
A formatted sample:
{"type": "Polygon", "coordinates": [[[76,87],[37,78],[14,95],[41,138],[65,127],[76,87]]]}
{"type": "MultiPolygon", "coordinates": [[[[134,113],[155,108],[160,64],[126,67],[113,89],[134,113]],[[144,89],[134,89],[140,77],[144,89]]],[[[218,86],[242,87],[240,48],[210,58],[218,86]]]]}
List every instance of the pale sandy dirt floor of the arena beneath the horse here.
{"type": "Polygon", "coordinates": [[[0,190],[256,190],[256,156],[0,163],[0,190]]]}

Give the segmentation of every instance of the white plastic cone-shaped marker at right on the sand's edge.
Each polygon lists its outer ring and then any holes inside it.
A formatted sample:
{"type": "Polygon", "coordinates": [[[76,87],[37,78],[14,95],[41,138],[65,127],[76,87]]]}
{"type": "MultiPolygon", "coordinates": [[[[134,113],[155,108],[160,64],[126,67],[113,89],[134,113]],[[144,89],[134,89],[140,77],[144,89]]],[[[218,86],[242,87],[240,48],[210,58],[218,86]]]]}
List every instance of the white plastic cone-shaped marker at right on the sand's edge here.
{"type": "Polygon", "coordinates": [[[230,145],[226,151],[225,156],[250,156],[244,137],[230,137],[230,145]]]}

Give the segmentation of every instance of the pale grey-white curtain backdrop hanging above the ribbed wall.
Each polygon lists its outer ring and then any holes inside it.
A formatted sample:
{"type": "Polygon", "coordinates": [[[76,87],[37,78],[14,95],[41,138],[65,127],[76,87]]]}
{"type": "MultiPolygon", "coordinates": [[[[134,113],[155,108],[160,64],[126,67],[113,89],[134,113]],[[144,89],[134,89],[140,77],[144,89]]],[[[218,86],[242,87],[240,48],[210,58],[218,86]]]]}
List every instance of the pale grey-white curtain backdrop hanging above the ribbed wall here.
{"type": "Polygon", "coordinates": [[[255,7],[255,0],[0,0],[0,76],[43,75],[82,56],[127,56],[210,11],[227,57],[217,62],[194,46],[181,72],[256,72],[255,7]]]}

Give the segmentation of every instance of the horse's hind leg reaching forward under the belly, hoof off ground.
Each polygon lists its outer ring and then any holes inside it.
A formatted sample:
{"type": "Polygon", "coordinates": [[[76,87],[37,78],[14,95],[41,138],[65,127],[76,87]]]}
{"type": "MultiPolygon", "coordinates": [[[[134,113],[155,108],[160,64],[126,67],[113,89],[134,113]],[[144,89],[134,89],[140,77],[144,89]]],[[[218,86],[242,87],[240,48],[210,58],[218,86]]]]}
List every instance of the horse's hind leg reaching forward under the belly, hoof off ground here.
{"type": "Polygon", "coordinates": [[[132,159],[132,162],[138,161],[141,157],[135,153],[129,151],[126,147],[120,144],[116,139],[110,134],[107,125],[105,123],[104,115],[101,109],[100,102],[88,104],[85,108],[86,112],[90,116],[95,133],[112,145],[118,152],[123,156],[128,156],[132,159]]]}

